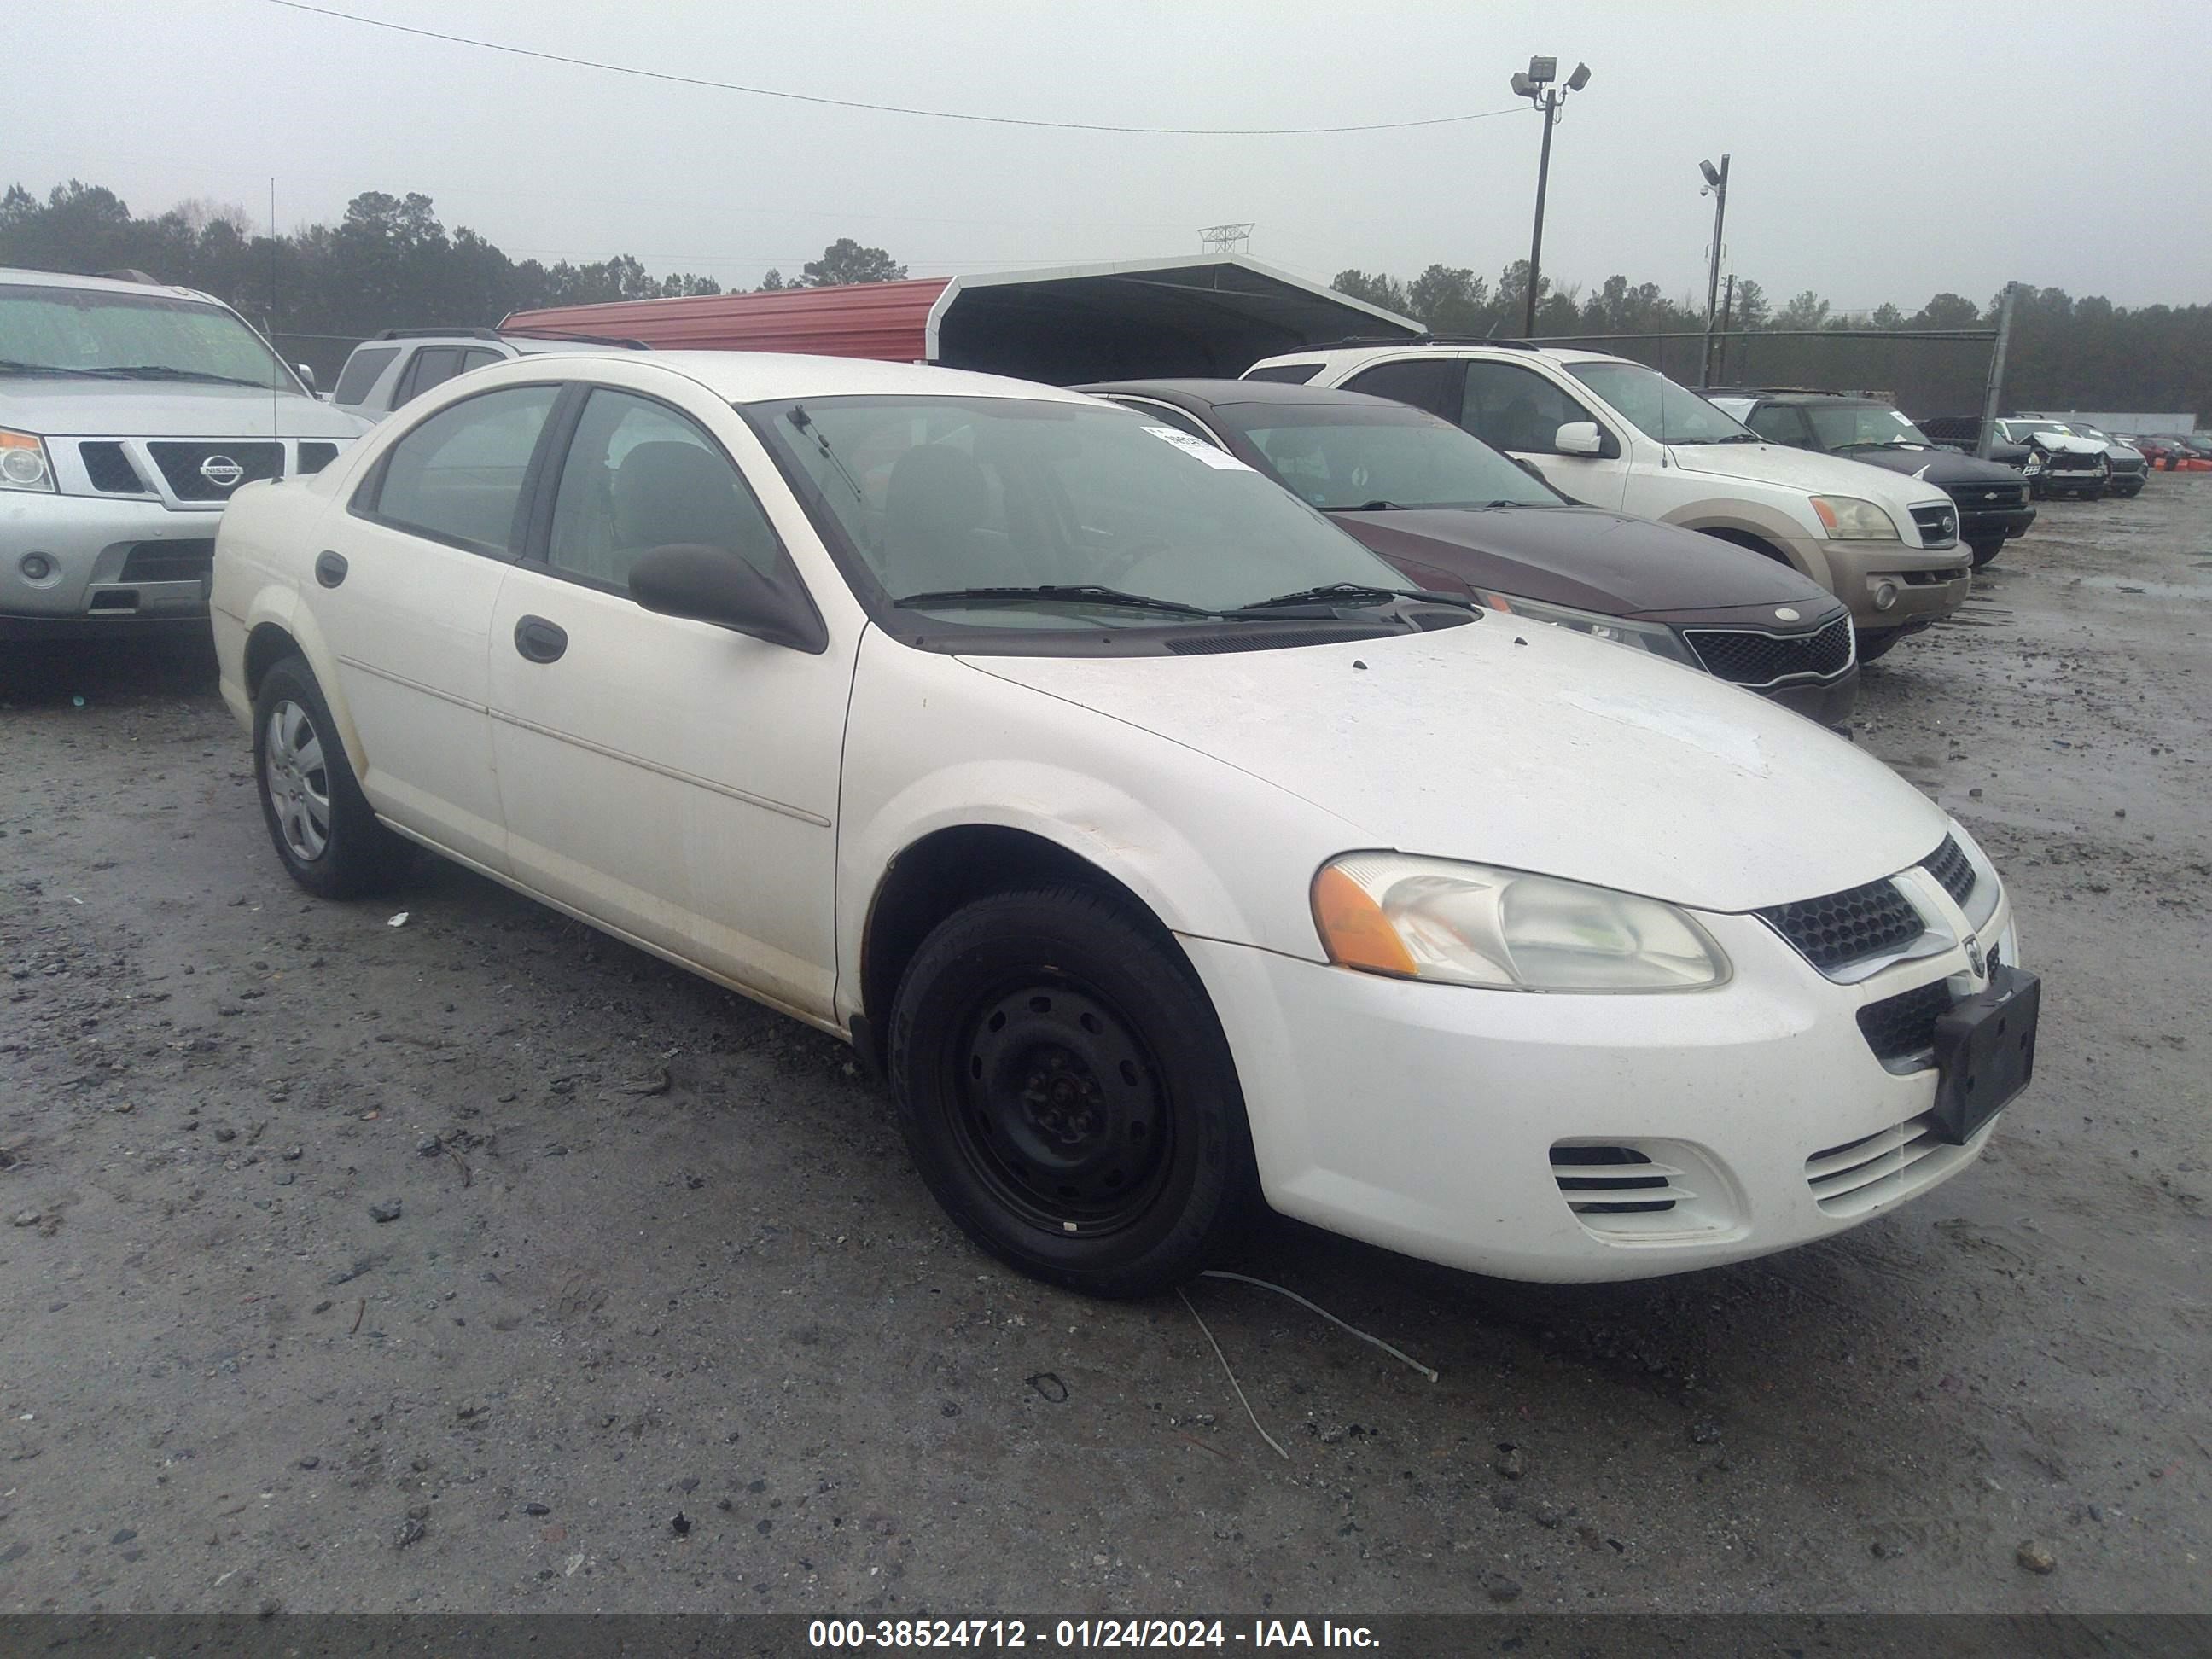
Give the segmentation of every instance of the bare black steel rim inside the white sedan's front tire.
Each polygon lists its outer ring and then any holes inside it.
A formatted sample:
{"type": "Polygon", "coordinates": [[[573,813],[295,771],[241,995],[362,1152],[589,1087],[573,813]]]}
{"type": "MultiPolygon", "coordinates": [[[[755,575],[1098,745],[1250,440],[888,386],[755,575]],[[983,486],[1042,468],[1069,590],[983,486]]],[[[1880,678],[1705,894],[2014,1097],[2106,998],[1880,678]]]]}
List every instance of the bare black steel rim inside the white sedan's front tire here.
{"type": "Polygon", "coordinates": [[[953,1139],[991,1194],[1062,1237],[1137,1221],[1168,1181],[1175,1126],[1144,1040],[1071,984],[984,998],[953,1048],[953,1139]]]}

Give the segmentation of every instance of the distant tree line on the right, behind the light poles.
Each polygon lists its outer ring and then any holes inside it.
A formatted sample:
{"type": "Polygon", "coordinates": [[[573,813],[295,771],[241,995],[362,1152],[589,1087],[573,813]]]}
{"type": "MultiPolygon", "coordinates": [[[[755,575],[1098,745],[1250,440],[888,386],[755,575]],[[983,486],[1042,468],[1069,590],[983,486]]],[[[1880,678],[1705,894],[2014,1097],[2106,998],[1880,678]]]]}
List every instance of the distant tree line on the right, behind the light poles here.
{"type": "MultiPolygon", "coordinates": [[[[1515,259],[1493,285],[1469,268],[1429,265],[1400,281],[1383,272],[1343,270],[1334,288],[1371,305],[1411,316],[1436,334],[1517,336],[1526,321],[1528,261],[1515,259]]],[[[1882,392],[1916,416],[1978,414],[1989,372],[1989,341],[1863,341],[1843,330],[1911,334],[1918,330],[1995,327],[2002,294],[1978,305],[1942,292],[1907,314],[1878,305],[1838,314],[1803,290],[1774,303],[1754,279],[1739,276],[1728,327],[1752,336],[1812,330],[1823,338],[1732,338],[1721,345],[1714,385],[1798,385],[1882,392]]],[[[1537,338],[1588,341],[1697,385],[1705,327],[1701,294],[1672,299],[1657,283],[1608,276],[1584,292],[1537,279],[1537,338]],[[1674,334],[1683,338],[1655,338],[1674,334]]],[[[2124,307],[2064,288],[2022,288],[2013,299],[2013,338],[2004,369],[2004,403],[2013,409],[2135,409],[2212,416],[2212,305],[2124,307]]]]}

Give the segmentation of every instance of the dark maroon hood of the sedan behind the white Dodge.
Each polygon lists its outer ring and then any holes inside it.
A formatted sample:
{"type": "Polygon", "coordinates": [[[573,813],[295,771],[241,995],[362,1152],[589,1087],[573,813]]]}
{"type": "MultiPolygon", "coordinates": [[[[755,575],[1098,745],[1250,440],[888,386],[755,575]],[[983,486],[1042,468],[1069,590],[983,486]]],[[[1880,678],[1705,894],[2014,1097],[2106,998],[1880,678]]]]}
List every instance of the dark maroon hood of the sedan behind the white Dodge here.
{"type": "Polygon", "coordinates": [[[1329,513],[1396,564],[1449,571],[1469,586],[1608,615],[1798,604],[1827,588],[1787,564],[1597,507],[1405,509],[1329,513]]]}

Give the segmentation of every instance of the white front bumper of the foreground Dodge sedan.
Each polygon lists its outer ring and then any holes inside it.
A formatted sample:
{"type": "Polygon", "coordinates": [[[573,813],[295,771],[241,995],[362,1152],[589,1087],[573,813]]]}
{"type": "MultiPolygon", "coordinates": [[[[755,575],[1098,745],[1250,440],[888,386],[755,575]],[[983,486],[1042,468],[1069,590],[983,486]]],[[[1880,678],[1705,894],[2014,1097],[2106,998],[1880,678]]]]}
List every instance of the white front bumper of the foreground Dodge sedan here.
{"type": "MultiPolygon", "coordinates": [[[[1973,1164],[1993,1124],[1933,1144],[1936,1071],[1887,1068],[1856,1020],[1933,980],[1980,991],[1962,947],[1836,984],[1756,918],[1699,920],[1734,978],[1681,995],[1473,991],[1217,940],[1183,949],[1237,1057],[1267,1201],[1451,1267],[1712,1267],[1843,1232],[1973,1164]],[[1663,1206],[1628,1192],[1593,1208],[1619,1148],[1668,1177],[1663,1206]]],[[[1982,936],[2017,967],[2004,900],[1982,936]]]]}

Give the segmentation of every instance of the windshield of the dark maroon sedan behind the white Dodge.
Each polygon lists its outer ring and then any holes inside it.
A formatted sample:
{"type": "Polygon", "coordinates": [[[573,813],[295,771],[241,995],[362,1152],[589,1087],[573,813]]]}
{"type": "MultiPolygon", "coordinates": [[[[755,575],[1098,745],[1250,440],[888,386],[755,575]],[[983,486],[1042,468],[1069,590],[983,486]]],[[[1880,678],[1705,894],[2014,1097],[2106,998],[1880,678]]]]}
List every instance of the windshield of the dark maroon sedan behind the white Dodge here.
{"type": "Polygon", "coordinates": [[[1217,407],[1214,420],[1250,438],[1276,478],[1329,513],[1564,504],[1473,434],[1413,409],[1254,403],[1217,407]]]}

